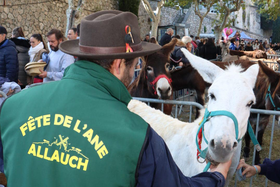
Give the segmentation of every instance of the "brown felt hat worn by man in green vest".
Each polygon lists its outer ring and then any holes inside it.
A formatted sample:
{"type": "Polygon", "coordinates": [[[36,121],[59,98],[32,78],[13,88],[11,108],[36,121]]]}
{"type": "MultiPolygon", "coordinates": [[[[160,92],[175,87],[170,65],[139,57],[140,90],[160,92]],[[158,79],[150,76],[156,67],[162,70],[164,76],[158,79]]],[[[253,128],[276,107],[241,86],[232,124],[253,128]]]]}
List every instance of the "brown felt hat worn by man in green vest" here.
{"type": "Polygon", "coordinates": [[[82,19],[80,39],[59,45],[61,51],[90,59],[130,59],[149,55],[161,49],[153,43],[142,42],[137,17],[131,12],[100,11],[82,19]],[[133,52],[126,52],[126,26],[131,28],[133,52]]]}

